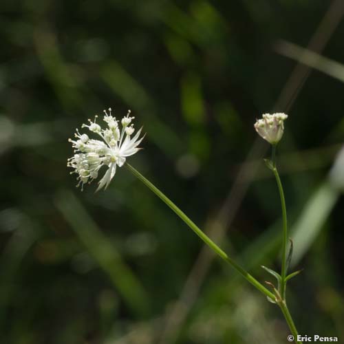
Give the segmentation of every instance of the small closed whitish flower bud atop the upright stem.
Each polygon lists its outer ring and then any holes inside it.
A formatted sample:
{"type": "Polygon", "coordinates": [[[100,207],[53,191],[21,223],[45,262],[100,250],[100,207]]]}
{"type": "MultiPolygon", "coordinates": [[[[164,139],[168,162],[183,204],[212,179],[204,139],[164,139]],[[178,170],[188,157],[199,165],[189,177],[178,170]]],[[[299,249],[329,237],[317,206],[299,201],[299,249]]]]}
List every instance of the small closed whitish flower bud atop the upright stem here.
{"type": "Polygon", "coordinates": [[[257,133],[270,144],[277,144],[283,136],[283,122],[288,118],[288,115],[279,112],[272,115],[264,114],[262,117],[255,122],[257,133]]]}

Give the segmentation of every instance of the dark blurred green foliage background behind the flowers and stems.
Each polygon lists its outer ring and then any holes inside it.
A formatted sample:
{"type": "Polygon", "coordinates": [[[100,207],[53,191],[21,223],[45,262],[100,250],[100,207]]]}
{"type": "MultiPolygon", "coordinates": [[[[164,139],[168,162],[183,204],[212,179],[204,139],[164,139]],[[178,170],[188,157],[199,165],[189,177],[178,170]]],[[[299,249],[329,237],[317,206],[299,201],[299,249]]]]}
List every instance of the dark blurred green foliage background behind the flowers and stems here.
{"type": "Polygon", "coordinates": [[[277,109],[290,115],[278,159],[305,268],[288,299],[301,333],[343,341],[344,204],[327,175],[344,137],[344,24],[331,3],[1,1],[1,343],[286,343],[277,308],[198,256],[197,237],[128,171],[80,193],[66,160],[75,127],[130,108],[147,132],[131,163],[211,237],[228,230],[219,242],[264,281],[281,211],[264,154],[248,152],[294,60],[314,70],[277,109]],[[314,32],[327,44],[303,54],[314,32]],[[248,189],[226,202],[243,171],[248,189]],[[229,228],[219,209],[233,211],[229,228]]]}

